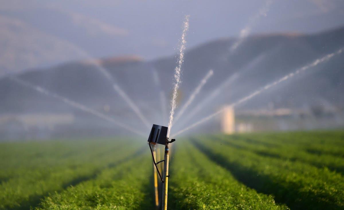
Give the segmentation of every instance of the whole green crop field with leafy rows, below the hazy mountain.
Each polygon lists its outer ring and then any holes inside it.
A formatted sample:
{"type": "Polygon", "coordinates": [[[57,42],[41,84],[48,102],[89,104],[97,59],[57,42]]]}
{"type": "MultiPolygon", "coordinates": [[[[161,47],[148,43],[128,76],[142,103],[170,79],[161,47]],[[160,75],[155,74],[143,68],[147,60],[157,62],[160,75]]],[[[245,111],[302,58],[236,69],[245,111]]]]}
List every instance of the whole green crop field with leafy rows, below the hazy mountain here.
{"type": "MultiPolygon", "coordinates": [[[[344,209],[344,132],[178,138],[169,209],[344,209]]],[[[0,209],[154,209],[146,139],[0,143],[0,209]]]]}

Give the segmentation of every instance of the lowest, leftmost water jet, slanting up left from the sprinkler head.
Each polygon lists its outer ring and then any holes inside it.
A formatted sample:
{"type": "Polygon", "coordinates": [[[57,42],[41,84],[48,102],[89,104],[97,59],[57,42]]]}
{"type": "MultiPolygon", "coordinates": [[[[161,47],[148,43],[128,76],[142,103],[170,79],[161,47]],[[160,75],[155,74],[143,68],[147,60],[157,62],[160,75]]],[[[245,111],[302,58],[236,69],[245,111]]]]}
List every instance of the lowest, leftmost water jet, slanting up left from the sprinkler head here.
{"type": "Polygon", "coordinates": [[[58,95],[58,94],[56,94],[56,93],[50,92],[50,91],[46,90],[45,88],[43,88],[43,87],[41,87],[41,86],[39,86],[39,85],[31,84],[31,83],[29,83],[29,82],[26,82],[26,81],[24,81],[24,80],[21,80],[21,79],[18,78],[18,77],[14,77],[14,76],[11,76],[11,77],[9,77],[9,78],[10,78],[11,80],[13,80],[13,81],[15,81],[15,82],[17,82],[17,83],[19,83],[19,84],[25,86],[25,87],[29,87],[29,88],[31,88],[31,89],[33,89],[33,90],[35,90],[35,91],[37,91],[37,92],[40,92],[40,93],[42,93],[42,94],[44,94],[44,95],[47,95],[47,96],[50,96],[50,97],[59,99],[60,101],[63,101],[64,103],[66,103],[66,104],[68,104],[68,105],[70,105],[70,106],[73,106],[74,108],[80,109],[80,110],[82,110],[82,111],[84,111],[84,112],[87,112],[87,113],[89,113],[89,114],[93,114],[93,115],[95,115],[95,116],[97,116],[97,117],[99,117],[99,118],[101,118],[101,119],[105,119],[105,120],[107,120],[107,121],[109,121],[109,122],[111,122],[111,123],[114,123],[115,125],[118,125],[119,127],[122,127],[122,128],[124,128],[124,129],[126,129],[126,130],[129,130],[130,132],[133,132],[133,133],[138,134],[138,135],[140,135],[140,136],[144,136],[143,133],[138,132],[136,129],[132,129],[132,128],[131,128],[130,126],[128,126],[128,125],[125,125],[125,124],[123,124],[123,123],[120,123],[120,122],[118,122],[117,120],[115,120],[115,119],[113,119],[113,118],[111,118],[111,117],[109,117],[109,116],[106,116],[106,115],[104,115],[104,114],[102,114],[102,113],[100,113],[100,112],[95,111],[94,109],[88,108],[88,107],[86,107],[86,106],[84,106],[84,105],[82,105],[82,104],[79,104],[79,103],[77,103],[77,102],[74,102],[74,101],[72,101],[71,99],[68,99],[68,98],[63,97],[63,96],[60,96],[60,95],[58,95]]]}

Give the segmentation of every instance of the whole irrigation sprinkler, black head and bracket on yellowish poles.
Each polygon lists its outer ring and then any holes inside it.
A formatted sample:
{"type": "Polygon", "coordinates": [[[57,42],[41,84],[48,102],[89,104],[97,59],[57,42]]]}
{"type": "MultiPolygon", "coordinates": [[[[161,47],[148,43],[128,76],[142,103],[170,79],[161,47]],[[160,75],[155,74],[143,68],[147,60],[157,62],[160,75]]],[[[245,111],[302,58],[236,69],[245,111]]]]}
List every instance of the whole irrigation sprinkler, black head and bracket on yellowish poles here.
{"type": "Polygon", "coordinates": [[[158,200],[158,177],[156,175],[156,172],[158,172],[158,175],[160,177],[160,180],[162,182],[162,209],[167,209],[167,191],[168,191],[168,180],[169,180],[169,143],[172,143],[175,141],[175,139],[171,139],[169,141],[169,138],[167,137],[167,130],[168,127],[161,126],[161,125],[155,125],[153,124],[151,132],[148,137],[149,142],[149,148],[152,153],[153,158],[153,164],[154,164],[154,192],[155,192],[155,206],[158,207],[157,203],[159,203],[158,200]],[[165,154],[164,159],[160,160],[158,162],[155,162],[156,157],[156,144],[162,144],[165,145],[165,154]],[[153,145],[153,148],[152,148],[153,145]],[[164,174],[161,176],[160,170],[158,168],[158,164],[164,162],[164,174]],[[164,177],[164,178],[163,178],[164,177]]]}

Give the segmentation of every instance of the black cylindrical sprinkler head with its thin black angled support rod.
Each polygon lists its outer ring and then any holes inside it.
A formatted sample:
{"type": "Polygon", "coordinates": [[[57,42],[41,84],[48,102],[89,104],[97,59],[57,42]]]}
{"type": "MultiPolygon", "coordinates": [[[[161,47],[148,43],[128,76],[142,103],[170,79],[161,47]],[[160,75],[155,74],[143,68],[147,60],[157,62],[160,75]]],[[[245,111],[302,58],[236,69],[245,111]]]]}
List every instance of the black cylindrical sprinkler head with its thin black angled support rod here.
{"type": "MultiPolygon", "coordinates": [[[[175,139],[171,139],[171,141],[169,141],[169,138],[166,137],[167,136],[167,129],[168,129],[168,127],[153,124],[151,132],[150,132],[149,137],[148,137],[149,148],[151,150],[153,163],[154,163],[155,168],[157,168],[157,171],[158,171],[158,174],[159,174],[159,177],[160,177],[162,183],[164,183],[164,179],[161,176],[161,173],[160,173],[159,168],[158,168],[158,164],[161,162],[164,162],[165,160],[160,160],[158,162],[155,162],[155,158],[153,155],[153,149],[151,147],[151,144],[154,145],[154,147],[155,147],[155,144],[157,144],[157,143],[165,145],[165,150],[168,151],[169,150],[168,144],[174,142],[175,139]]],[[[170,177],[170,175],[168,175],[168,177],[170,177]]]]}

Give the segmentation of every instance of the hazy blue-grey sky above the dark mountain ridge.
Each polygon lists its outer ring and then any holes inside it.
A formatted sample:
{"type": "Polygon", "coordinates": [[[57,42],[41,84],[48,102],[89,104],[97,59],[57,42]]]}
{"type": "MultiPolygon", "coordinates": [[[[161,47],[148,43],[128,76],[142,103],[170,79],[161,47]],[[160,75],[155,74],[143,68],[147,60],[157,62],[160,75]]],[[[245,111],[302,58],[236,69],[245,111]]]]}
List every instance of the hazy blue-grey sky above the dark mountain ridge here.
{"type": "Polygon", "coordinates": [[[0,75],[90,57],[175,54],[185,14],[187,48],[250,34],[314,33],[344,25],[343,0],[1,0],[0,75]]]}

